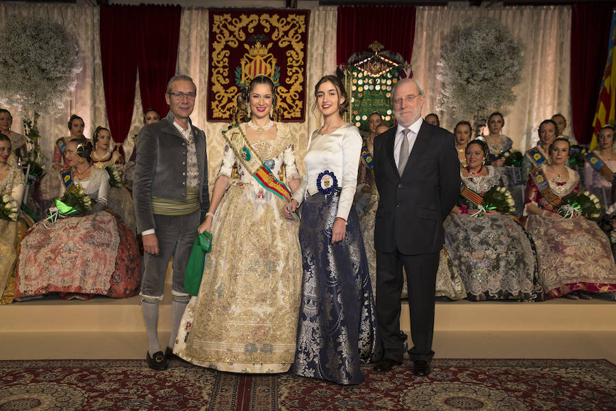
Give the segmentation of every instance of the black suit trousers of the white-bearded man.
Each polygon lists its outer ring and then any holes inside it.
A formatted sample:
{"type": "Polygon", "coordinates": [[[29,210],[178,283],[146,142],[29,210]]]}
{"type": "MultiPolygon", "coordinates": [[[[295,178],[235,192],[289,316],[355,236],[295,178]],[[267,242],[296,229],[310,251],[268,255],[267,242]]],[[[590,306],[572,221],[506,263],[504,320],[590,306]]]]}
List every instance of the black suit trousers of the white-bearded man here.
{"type": "MultiPolygon", "coordinates": [[[[402,361],[400,336],[400,294],[402,266],[407,273],[411,312],[411,360],[430,361],[434,356],[434,295],[439,253],[407,255],[376,251],[376,319],[383,340],[385,358],[402,361]]],[[[410,346],[410,344],[409,344],[410,346]]]]}

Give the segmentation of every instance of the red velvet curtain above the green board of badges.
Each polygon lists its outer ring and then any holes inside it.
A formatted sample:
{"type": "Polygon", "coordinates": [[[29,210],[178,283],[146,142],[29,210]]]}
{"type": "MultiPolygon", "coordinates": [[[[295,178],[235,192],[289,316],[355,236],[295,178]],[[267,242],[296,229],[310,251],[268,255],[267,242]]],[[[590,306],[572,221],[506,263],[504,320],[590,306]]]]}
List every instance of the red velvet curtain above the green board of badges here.
{"type": "Polygon", "coordinates": [[[415,6],[343,5],[338,7],[337,24],[337,64],[346,64],[353,53],[368,50],[374,40],[411,61],[415,6]]]}

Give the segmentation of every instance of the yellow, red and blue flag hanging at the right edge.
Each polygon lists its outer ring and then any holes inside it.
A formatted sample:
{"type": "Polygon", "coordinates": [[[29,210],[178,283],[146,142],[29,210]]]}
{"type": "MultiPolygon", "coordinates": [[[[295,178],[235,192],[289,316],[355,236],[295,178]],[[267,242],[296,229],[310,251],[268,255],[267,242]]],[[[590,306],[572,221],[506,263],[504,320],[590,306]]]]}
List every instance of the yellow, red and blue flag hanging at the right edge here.
{"type": "Polygon", "coordinates": [[[614,45],[616,40],[616,13],[612,12],[612,27],[610,29],[610,45],[608,58],[603,72],[603,80],[599,91],[597,112],[593,120],[593,139],[591,149],[598,147],[597,133],[606,124],[614,124],[616,118],[616,72],[612,72],[612,60],[614,57],[614,45]],[[614,75],[614,77],[612,77],[614,75]],[[594,146],[594,147],[593,147],[594,146]]]}

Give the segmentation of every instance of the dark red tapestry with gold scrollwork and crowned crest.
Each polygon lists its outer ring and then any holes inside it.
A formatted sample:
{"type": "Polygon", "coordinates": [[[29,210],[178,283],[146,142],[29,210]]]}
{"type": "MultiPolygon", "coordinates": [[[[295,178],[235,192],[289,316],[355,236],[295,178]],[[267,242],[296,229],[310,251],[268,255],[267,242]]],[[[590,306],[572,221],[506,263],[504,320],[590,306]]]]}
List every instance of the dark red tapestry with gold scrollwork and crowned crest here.
{"type": "Polygon", "coordinates": [[[231,121],[256,75],[277,87],[279,121],[305,118],[309,10],[210,10],[208,121],[231,121]]]}

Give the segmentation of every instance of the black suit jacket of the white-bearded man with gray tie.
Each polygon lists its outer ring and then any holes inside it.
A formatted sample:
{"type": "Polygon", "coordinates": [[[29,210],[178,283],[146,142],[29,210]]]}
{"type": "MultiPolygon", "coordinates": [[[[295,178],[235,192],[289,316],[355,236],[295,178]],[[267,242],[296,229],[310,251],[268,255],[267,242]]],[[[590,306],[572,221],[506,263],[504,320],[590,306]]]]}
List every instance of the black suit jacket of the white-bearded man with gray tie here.
{"type": "Polygon", "coordinates": [[[402,176],[394,160],[397,127],[374,138],[378,208],[374,248],[385,253],[436,253],[444,243],[443,221],[460,195],[460,164],[454,136],[422,123],[402,176]]]}

